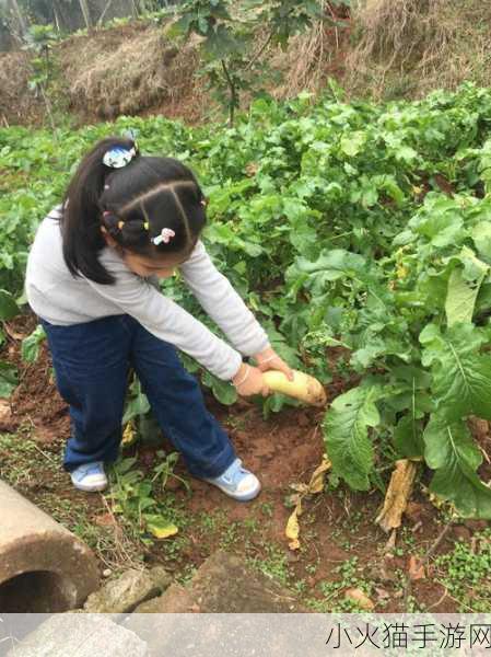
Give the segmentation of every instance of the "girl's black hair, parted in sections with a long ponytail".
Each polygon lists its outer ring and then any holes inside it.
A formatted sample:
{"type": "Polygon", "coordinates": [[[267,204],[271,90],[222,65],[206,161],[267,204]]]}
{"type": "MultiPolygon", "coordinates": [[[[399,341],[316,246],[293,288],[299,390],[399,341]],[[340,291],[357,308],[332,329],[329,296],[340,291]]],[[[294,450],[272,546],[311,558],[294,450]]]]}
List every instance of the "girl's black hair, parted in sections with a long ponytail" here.
{"type": "Polygon", "coordinates": [[[113,148],[137,148],[131,139],[102,139],[83,158],[63,199],[61,230],[65,262],[73,276],[112,284],[101,264],[103,231],[122,249],[155,258],[187,254],[206,223],[204,197],[194,173],[173,158],[137,155],[126,166],[103,163],[113,148]],[[174,231],[167,243],[152,239],[174,231]]]}

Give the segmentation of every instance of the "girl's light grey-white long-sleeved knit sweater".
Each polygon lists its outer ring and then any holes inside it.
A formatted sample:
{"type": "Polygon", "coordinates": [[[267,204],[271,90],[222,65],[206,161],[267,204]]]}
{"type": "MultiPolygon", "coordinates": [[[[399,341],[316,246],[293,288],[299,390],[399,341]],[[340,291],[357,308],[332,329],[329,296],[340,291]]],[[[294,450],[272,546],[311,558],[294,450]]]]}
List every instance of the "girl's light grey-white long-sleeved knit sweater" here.
{"type": "Polygon", "coordinates": [[[236,374],[241,354],[253,356],[269,346],[265,331],[229,279],[215,268],[202,242],[198,242],[179,270],[203,310],[235,348],[166,298],[149,279],[131,272],[109,246],[101,252],[100,260],[116,278],[114,285],[73,277],[63,260],[60,212],[61,206],[57,206],[42,221],[28,255],[25,288],[38,316],[51,324],[71,325],[129,314],[223,380],[236,374]]]}

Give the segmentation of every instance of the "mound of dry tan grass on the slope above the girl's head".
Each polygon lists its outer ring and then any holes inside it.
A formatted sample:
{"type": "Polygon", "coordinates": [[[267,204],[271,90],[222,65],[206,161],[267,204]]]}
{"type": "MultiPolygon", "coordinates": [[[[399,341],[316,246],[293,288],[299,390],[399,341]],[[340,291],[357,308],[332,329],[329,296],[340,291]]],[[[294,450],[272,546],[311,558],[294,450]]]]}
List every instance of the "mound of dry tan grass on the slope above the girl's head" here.
{"type": "Polygon", "coordinates": [[[201,110],[194,96],[197,50],[192,44],[177,48],[162,28],[135,23],[74,37],[58,58],[69,108],[81,116],[113,119],[163,106],[167,115],[192,119],[201,110]]]}

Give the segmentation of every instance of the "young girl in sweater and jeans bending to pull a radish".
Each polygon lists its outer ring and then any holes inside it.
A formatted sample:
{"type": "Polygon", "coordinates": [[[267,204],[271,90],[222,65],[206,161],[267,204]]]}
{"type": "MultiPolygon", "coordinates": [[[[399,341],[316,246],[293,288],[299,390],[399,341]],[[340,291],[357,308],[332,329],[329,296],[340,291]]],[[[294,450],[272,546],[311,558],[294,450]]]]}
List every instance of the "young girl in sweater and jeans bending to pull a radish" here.
{"type": "Polygon", "coordinates": [[[198,182],[180,162],[143,157],[131,139],[107,138],[82,160],[63,203],[37,230],[26,292],[70,405],[63,468],[81,491],[107,486],[104,463],[118,454],[131,366],[194,476],[235,499],[259,493],[258,479],[242,466],[176,353],[232,381],[242,395],[269,393],[261,374],[267,369],[292,377],[211,263],[200,241],[204,209],[198,182]],[[161,293],[157,279],[176,268],[235,348],[161,293]]]}

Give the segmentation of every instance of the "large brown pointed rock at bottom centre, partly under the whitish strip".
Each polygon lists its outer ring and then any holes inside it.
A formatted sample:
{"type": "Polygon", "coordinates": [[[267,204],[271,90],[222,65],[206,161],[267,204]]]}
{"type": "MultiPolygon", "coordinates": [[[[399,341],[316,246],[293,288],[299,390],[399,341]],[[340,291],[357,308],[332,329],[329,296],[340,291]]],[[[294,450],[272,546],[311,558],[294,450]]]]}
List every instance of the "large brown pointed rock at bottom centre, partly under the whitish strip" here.
{"type": "MultiPolygon", "coordinates": [[[[200,566],[189,586],[173,584],[160,598],[140,604],[124,626],[148,643],[152,656],[284,657],[299,641],[297,626],[283,624],[277,636],[271,623],[284,612],[302,616],[306,611],[290,591],[246,566],[244,560],[218,551],[200,566]],[[246,645],[254,649],[246,652],[246,645]]],[[[311,639],[312,632],[308,636],[311,639]]],[[[324,642],[323,634],[320,645],[324,642]]]]}

